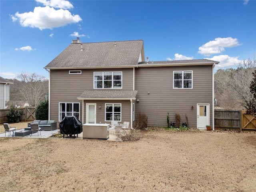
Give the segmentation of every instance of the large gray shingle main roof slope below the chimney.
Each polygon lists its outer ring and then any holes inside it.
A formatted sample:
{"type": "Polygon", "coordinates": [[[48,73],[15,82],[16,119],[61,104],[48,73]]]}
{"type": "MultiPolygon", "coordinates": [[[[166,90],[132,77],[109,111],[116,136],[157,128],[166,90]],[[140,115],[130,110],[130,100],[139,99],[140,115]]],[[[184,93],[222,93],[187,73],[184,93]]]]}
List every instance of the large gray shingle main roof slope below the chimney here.
{"type": "Polygon", "coordinates": [[[142,48],[143,40],[72,43],[44,68],[137,65],[142,48]]]}

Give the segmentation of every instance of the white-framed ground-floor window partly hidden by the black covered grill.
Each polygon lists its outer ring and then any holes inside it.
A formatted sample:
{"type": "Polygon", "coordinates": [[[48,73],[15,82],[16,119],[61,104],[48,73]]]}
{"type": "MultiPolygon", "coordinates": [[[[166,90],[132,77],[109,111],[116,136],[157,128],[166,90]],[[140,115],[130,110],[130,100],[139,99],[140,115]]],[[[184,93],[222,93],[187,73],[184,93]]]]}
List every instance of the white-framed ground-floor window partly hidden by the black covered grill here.
{"type": "Polygon", "coordinates": [[[80,103],[59,103],[59,121],[65,116],[76,116],[80,118],[80,103]]]}

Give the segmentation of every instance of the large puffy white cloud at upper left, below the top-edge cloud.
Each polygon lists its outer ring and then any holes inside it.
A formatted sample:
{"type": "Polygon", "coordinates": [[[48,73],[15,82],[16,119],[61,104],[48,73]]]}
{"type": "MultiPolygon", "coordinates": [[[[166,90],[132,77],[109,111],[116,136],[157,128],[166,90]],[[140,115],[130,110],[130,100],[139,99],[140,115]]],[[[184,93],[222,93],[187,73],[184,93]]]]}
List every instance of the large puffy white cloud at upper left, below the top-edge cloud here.
{"type": "Polygon", "coordinates": [[[72,15],[68,10],[55,10],[49,6],[35,7],[34,12],[16,12],[15,17],[11,17],[13,21],[18,19],[21,26],[36,27],[40,30],[52,29],[82,21],[79,15],[72,15]]]}

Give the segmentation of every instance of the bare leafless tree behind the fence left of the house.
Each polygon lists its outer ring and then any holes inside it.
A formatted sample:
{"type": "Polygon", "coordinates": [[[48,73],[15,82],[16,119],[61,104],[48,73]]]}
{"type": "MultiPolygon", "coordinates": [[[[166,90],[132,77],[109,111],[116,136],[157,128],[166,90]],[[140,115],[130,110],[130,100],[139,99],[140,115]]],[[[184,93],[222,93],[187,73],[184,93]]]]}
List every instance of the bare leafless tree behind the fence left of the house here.
{"type": "Polygon", "coordinates": [[[21,72],[14,87],[22,97],[21,100],[36,107],[48,94],[48,79],[35,73],[21,72]]]}

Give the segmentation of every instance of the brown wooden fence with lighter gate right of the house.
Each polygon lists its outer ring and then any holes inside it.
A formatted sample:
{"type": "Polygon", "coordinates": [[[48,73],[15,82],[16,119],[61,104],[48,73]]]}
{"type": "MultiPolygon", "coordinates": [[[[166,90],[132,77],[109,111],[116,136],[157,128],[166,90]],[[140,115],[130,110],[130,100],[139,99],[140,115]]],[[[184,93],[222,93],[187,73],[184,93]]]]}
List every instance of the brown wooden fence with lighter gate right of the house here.
{"type": "Polygon", "coordinates": [[[214,110],[214,128],[256,131],[256,117],[246,114],[246,110],[214,110]]]}

